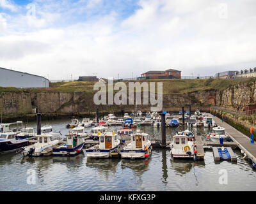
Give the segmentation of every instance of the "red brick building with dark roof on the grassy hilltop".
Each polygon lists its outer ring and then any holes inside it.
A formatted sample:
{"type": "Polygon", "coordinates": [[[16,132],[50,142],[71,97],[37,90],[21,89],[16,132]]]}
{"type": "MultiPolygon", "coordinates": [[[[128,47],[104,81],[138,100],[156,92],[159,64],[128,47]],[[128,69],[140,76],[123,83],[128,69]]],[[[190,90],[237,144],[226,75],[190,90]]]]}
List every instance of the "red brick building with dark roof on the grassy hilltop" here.
{"type": "Polygon", "coordinates": [[[180,78],[181,71],[175,69],[167,69],[165,71],[147,71],[141,74],[141,77],[150,77],[150,78],[180,78]]]}

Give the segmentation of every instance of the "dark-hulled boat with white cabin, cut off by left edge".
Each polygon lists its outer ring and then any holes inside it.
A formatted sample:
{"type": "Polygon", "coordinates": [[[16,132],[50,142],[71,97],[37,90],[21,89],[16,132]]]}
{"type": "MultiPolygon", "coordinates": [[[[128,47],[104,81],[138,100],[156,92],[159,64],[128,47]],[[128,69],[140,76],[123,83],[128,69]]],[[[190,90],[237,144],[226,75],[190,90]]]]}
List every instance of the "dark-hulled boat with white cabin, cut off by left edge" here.
{"type": "Polygon", "coordinates": [[[26,139],[17,139],[14,132],[0,134],[0,154],[13,152],[27,145],[29,145],[29,141],[26,139]]]}

